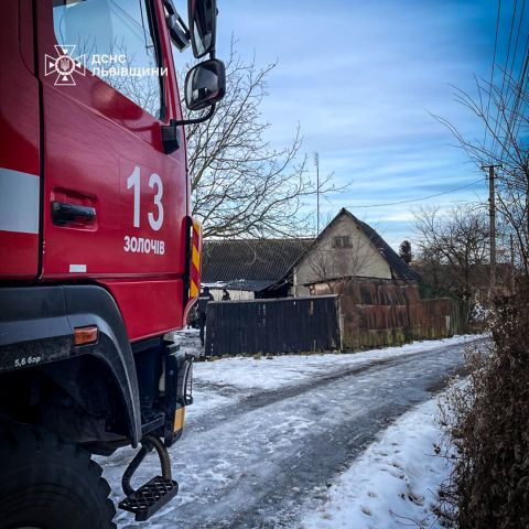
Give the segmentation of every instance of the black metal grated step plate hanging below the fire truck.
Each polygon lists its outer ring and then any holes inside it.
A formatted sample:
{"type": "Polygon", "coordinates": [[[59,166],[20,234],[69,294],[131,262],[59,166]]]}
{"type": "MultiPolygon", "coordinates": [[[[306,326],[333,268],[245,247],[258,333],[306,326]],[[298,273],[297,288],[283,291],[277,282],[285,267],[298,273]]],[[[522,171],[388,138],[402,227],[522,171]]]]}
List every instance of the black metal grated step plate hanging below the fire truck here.
{"type": "Polygon", "coordinates": [[[174,479],[156,476],[119,503],[119,508],[136,515],[136,521],[145,521],[179,493],[174,479]]]}

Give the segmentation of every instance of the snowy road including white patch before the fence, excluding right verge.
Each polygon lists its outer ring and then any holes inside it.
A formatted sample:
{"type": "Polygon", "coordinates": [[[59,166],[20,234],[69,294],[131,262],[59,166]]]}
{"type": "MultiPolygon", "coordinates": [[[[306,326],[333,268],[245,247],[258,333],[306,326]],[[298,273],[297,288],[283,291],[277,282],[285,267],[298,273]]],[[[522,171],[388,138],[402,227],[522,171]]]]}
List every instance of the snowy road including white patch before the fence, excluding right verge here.
{"type": "MultiPolygon", "coordinates": [[[[193,334],[182,346],[194,347],[193,334]]],[[[296,527],[377,433],[461,369],[465,343],[349,355],[230,358],[195,366],[195,401],[172,449],[179,496],[141,527],[296,527]]],[[[104,460],[114,499],[131,450],[104,460]]],[[[153,462],[138,482],[158,473],[153,462]]],[[[119,512],[121,529],[140,527],[119,512]]]]}

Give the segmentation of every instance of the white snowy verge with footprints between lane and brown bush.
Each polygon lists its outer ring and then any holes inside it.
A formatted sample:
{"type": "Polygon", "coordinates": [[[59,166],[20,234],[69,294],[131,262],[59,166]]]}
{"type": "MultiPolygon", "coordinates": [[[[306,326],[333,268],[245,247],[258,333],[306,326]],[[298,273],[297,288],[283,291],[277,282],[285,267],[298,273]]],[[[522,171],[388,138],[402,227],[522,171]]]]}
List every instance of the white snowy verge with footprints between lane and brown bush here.
{"type": "Polygon", "coordinates": [[[385,430],[330,488],[330,498],[306,515],[303,529],[440,528],[432,508],[450,473],[434,454],[442,431],[438,398],[413,408],[385,430]]]}

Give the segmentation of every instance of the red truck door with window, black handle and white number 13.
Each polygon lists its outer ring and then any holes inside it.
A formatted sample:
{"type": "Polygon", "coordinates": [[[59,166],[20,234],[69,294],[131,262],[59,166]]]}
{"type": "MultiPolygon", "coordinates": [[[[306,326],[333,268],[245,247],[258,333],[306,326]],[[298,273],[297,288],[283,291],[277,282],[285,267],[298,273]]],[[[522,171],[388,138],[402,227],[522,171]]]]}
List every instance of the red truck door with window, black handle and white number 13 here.
{"type": "Polygon", "coordinates": [[[185,145],[158,0],[36,3],[44,117],[42,279],[97,280],[131,339],[182,319],[185,145]]]}

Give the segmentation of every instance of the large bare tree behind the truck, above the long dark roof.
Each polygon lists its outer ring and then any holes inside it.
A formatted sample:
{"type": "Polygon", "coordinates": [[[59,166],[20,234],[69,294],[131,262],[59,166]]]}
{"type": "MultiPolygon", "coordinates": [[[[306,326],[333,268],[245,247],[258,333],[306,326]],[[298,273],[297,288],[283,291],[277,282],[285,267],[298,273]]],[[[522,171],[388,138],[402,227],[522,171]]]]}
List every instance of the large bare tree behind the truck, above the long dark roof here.
{"type": "MultiPolygon", "coordinates": [[[[317,190],[301,154],[300,129],[281,149],[266,139],[271,125],[262,120],[261,104],[276,64],[245,63],[235,44],[226,61],[226,96],[215,116],[186,128],[193,215],[203,222],[206,238],[309,233],[306,199],[317,190]]],[[[320,193],[332,190],[331,176],[324,177],[320,193]]]]}

